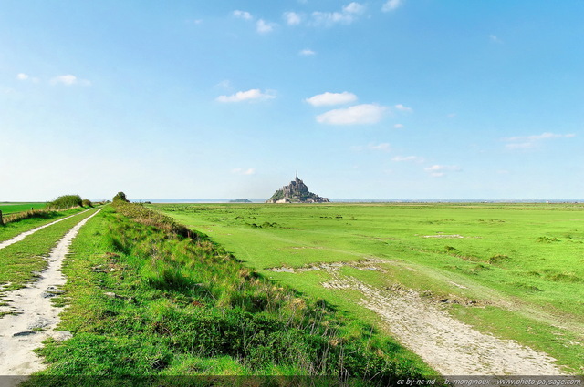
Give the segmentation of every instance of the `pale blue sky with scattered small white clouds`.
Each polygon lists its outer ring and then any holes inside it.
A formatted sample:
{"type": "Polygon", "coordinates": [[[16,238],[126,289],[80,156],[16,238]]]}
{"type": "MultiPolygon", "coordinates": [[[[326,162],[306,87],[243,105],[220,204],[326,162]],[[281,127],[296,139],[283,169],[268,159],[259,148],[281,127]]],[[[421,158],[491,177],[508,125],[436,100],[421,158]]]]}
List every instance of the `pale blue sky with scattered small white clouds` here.
{"type": "Polygon", "coordinates": [[[584,198],[581,0],[0,0],[0,201],[584,198]]]}

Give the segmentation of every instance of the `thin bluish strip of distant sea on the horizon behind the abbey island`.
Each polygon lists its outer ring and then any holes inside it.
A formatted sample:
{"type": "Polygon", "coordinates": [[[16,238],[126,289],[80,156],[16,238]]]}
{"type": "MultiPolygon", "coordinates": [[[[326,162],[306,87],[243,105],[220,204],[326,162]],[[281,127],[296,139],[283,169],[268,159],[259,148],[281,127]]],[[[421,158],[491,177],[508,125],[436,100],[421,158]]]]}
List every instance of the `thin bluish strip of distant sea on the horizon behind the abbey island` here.
{"type": "MultiPolygon", "coordinates": [[[[245,198],[237,198],[245,199],[245,198]]],[[[229,203],[236,199],[130,199],[143,203],[229,203]]],[[[249,199],[264,203],[266,199],[249,199]]],[[[584,199],[329,199],[332,203],[584,203],[584,199]]]]}

